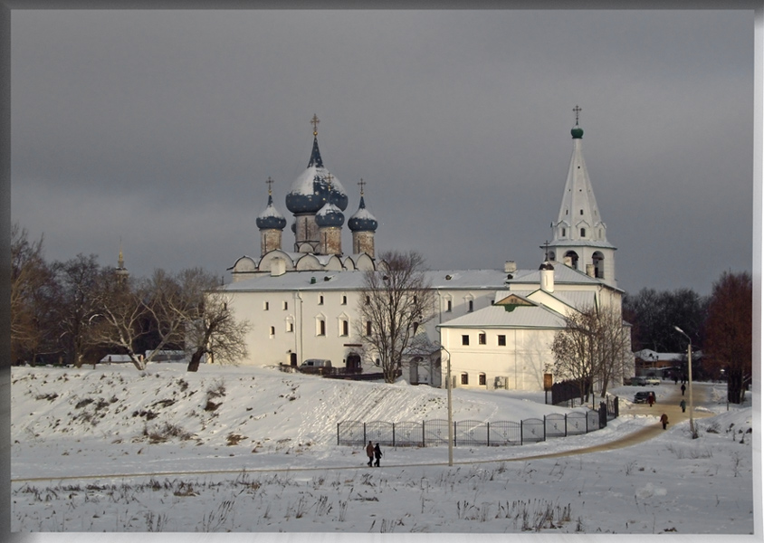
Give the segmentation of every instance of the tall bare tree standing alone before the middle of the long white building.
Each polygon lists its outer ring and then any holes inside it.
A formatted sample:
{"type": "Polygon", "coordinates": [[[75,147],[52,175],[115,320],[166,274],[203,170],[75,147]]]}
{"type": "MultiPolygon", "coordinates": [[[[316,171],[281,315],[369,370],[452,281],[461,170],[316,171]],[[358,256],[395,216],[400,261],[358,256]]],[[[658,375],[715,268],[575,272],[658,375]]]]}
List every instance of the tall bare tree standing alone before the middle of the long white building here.
{"type": "Polygon", "coordinates": [[[435,293],[418,252],[385,252],[380,270],[364,275],[356,331],[379,359],[387,383],[400,375],[404,353],[417,329],[433,319],[435,293]]]}

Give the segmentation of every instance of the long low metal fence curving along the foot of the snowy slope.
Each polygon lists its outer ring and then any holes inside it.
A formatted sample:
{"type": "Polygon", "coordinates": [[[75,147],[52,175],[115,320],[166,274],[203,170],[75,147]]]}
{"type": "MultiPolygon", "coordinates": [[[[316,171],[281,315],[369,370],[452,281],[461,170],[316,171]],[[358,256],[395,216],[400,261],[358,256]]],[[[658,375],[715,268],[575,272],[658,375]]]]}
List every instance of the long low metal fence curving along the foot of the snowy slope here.
{"type": "MultiPolygon", "coordinates": [[[[594,432],[604,427],[600,412],[548,414],[523,421],[454,421],[454,446],[521,445],[538,443],[548,438],[594,432]]],[[[362,447],[368,442],[388,447],[427,447],[448,445],[448,421],[442,419],[421,423],[343,421],[337,423],[337,444],[362,447]]]]}

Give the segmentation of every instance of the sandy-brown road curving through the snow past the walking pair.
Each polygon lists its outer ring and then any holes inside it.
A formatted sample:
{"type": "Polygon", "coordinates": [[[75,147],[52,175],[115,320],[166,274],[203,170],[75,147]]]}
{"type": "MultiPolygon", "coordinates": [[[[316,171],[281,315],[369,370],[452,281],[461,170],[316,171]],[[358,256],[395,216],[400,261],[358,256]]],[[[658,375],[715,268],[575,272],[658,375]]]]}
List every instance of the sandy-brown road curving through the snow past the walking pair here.
{"type": "MultiPolygon", "coordinates": [[[[670,388],[671,392],[668,395],[665,395],[660,402],[654,404],[652,407],[647,404],[634,404],[634,405],[622,406],[621,414],[651,414],[651,415],[654,415],[655,417],[660,417],[661,414],[665,413],[669,417],[669,425],[677,424],[685,420],[688,420],[690,418],[690,406],[689,405],[687,406],[687,411],[685,413],[682,412],[682,408],[679,406],[679,403],[682,401],[682,398],[683,398],[680,387],[674,386],[673,384],[670,384],[667,381],[664,381],[664,383],[661,386],[665,388],[671,387],[670,388]]],[[[700,386],[696,385],[696,386],[693,386],[692,388],[693,388],[693,391],[692,391],[693,400],[695,404],[694,418],[699,419],[699,418],[711,416],[712,415],[711,412],[697,410],[697,407],[699,405],[707,404],[710,401],[710,398],[709,398],[710,388],[708,386],[702,386],[702,385],[700,386]]],[[[684,396],[684,399],[685,400],[688,399],[686,395],[684,396]]],[[[589,452],[612,451],[615,449],[630,447],[637,443],[644,443],[645,441],[653,439],[656,435],[658,435],[661,432],[664,432],[664,429],[661,423],[659,423],[656,418],[654,424],[646,426],[645,428],[641,430],[638,430],[634,433],[630,433],[626,435],[625,437],[616,439],[612,442],[601,443],[598,445],[593,445],[591,447],[581,447],[579,449],[571,449],[569,451],[563,451],[563,452],[548,452],[544,454],[533,454],[529,456],[521,456],[516,458],[504,458],[504,459],[498,458],[498,459],[492,459],[492,460],[478,460],[478,461],[471,460],[471,461],[465,461],[465,462],[454,462],[454,465],[469,465],[469,464],[475,464],[475,463],[492,463],[492,462],[525,462],[527,460],[537,460],[542,458],[559,458],[560,456],[573,456],[576,454],[587,454],[589,452]]],[[[387,464],[385,467],[386,468],[405,468],[405,467],[413,467],[417,465],[446,466],[448,465],[448,462],[428,462],[426,464],[387,464]]],[[[363,466],[358,466],[358,465],[323,466],[323,467],[315,467],[315,468],[290,467],[290,468],[282,468],[282,469],[273,469],[273,468],[248,469],[244,471],[249,473],[327,472],[329,470],[365,470],[365,469],[367,469],[366,464],[364,464],[363,466]]],[[[113,474],[101,474],[101,475],[75,475],[75,476],[67,476],[67,477],[34,477],[34,478],[26,478],[26,479],[12,479],[11,481],[12,482],[68,481],[68,480],[83,481],[83,480],[92,480],[92,479],[126,479],[126,478],[132,478],[132,477],[213,475],[213,474],[225,474],[225,473],[241,473],[242,471],[243,470],[241,469],[237,469],[237,470],[207,470],[207,471],[199,471],[199,472],[193,471],[193,472],[113,473],[113,474]]]]}

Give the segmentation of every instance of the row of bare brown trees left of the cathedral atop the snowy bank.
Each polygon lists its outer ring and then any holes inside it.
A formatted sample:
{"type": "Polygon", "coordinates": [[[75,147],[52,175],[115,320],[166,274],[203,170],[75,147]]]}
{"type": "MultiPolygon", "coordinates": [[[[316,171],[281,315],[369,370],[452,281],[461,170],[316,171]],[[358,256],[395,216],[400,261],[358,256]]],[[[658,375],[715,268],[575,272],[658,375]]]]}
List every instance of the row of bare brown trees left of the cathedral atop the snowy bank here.
{"type": "Polygon", "coordinates": [[[45,262],[43,238],[11,232],[11,356],[80,367],[107,353],[128,355],[143,369],[162,350],[184,350],[188,370],[205,354],[235,361],[246,356],[249,324],[234,319],[216,277],[194,268],[130,278],[103,268],[95,255],[45,262]],[[148,355],[144,356],[144,353],[148,355]]]}

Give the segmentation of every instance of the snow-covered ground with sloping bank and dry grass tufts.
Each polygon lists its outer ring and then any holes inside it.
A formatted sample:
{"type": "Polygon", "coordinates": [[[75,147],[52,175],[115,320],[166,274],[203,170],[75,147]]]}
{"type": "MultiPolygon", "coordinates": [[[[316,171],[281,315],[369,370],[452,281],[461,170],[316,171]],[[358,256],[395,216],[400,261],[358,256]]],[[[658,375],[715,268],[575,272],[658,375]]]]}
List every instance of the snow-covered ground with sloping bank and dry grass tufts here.
{"type": "MultiPolygon", "coordinates": [[[[35,532],[752,534],[751,408],[721,385],[687,422],[614,451],[525,459],[658,424],[507,447],[337,445],[337,423],[445,419],[445,391],[273,368],[155,364],[12,369],[12,529],[35,532]]],[[[613,392],[630,399],[639,387],[613,392]]],[[[673,383],[654,387],[658,405],[673,383]]],[[[570,410],[543,393],[454,390],[454,420],[570,410]]],[[[644,410],[642,410],[644,411],[644,410]]]]}

